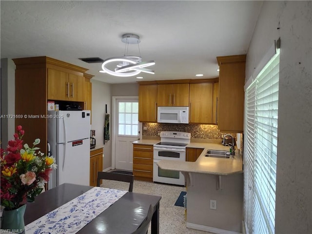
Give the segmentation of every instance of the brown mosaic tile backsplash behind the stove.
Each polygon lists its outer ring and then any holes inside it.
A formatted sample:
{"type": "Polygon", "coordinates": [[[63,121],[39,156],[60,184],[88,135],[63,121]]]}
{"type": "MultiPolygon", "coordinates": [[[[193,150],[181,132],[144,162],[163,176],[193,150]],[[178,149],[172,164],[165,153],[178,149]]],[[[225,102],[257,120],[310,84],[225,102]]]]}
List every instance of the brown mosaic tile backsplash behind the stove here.
{"type": "Polygon", "coordinates": [[[171,124],[171,123],[143,123],[142,137],[157,137],[161,131],[177,131],[191,133],[191,139],[221,139],[221,135],[231,134],[236,137],[236,133],[223,133],[218,130],[217,125],[210,124],[171,124]]]}

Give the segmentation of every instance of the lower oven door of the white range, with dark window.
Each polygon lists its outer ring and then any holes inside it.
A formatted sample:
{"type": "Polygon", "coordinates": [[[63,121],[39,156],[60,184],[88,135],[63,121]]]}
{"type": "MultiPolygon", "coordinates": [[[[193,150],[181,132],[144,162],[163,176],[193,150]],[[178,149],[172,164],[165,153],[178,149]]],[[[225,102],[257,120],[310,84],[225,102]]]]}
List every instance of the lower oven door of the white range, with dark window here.
{"type": "Polygon", "coordinates": [[[166,184],[176,184],[185,186],[185,179],[181,172],[163,170],[158,167],[157,162],[160,160],[154,159],[153,165],[153,181],[166,183],[166,184]]]}

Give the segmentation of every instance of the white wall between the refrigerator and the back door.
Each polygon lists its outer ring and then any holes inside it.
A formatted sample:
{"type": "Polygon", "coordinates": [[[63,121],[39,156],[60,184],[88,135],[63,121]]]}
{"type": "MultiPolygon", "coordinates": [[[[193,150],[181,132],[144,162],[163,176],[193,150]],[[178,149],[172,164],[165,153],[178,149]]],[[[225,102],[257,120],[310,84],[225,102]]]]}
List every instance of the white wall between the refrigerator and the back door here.
{"type": "MultiPolygon", "coordinates": [[[[96,130],[97,146],[104,143],[104,117],[105,105],[107,104],[107,113],[111,114],[111,85],[98,80],[91,79],[92,82],[92,114],[91,129],[96,130]]],[[[110,116],[110,123],[112,117],[110,116]]],[[[111,129],[111,126],[110,126],[111,129]]],[[[111,130],[110,130],[111,133],[111,130]]],[[[112,140],[105,142],[103,148],[103,169],[112,165],[112,140]]]]}

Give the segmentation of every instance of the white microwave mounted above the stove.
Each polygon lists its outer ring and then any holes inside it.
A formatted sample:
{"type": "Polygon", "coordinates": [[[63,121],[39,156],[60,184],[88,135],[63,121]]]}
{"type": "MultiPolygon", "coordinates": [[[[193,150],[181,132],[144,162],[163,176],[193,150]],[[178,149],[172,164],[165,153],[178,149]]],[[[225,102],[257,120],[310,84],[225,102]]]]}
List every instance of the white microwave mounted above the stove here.
{"type": "Polygon", "coordinates": [[[189,123],[188,106],[158,106],[158,123],[189,123]]]}

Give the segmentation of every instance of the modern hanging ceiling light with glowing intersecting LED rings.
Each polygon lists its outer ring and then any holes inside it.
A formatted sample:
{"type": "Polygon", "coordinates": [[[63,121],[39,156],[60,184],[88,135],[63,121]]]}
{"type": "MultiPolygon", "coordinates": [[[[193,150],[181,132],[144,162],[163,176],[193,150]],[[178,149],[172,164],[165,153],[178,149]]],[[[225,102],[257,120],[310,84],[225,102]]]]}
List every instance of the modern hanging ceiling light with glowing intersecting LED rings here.
{"type": "Polygon", "coordinates": [[[155,65],[154,60],[142,62],[140,47],[138,46],[138,43],[141,42],[139,36],[136,34],[124,34],[121,41],[126,43],[124,56],[105,59],[102,63],[102,71],[99,72],[116,77],[132,77],[141,72],[155,74],[155,71],[146,68],[155,65]],[[128,51],[129,44],[137,44],[140,56],[126,56],[126,50],[128,51]],[[113,62],[119,63],[117,63],[115,69],[109,69],[108,64],[113,62]]]}

